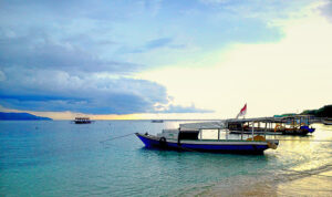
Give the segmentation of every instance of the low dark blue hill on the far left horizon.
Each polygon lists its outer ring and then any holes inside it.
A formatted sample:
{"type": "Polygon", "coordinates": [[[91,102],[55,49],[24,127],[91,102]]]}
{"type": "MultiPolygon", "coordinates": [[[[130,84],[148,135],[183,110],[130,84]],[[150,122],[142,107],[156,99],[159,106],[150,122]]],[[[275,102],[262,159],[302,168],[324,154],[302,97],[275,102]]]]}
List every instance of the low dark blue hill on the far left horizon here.
{"type": "Polygon", "coordinates": [[[0,121],[52,121],[52,118],[40,117],[29,113],[0,112],[0,121]]]}

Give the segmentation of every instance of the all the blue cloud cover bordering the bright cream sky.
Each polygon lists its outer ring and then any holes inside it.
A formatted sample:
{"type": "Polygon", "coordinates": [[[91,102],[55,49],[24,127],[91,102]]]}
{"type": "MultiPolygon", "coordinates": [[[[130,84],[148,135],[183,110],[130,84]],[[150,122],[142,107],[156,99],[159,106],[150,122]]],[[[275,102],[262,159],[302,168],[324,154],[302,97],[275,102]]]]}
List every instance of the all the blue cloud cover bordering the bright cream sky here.
{"type": "MultiPolygon", "coordinates": [[[[209,2],[214,3],[2,1],[0,104],[18,110],[129,114],[158,112],[155,104],[160,103],[169,106],[164,110],[167,113],[205,112],[187,105],[197,105],[195,101],[170,104],[169,90],[134,76],[159,65],[199,63],[205,52],[232,42],[276,42],[282,34],[269,20],[284,18],[301,4],[209,2]]],[[[167,81],[173,76],[169,73],[167,81]]],[[[187,79],[186,73],[180,79],[187,79]]],[[[185,89],[195,91],[190,84],[185,89]]]]}

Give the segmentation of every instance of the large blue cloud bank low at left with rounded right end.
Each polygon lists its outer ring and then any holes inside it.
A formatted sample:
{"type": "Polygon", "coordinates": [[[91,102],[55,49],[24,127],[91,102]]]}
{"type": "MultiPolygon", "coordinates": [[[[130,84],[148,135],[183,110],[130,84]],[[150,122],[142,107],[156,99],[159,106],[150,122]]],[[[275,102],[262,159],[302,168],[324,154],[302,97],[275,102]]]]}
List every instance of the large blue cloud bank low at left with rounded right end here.
{"type": "MultiPolygon", "coordinates": [[[[132,114],[154,113],[156,103],[168,103],[166,89],[145,80],[22,66],[6,68],[3,73],[7,80],[0,82],[0,105],[8,108],[132,114]]],[[[201,112],[195,110],[172,106],[167,113],[201,112]]]]}

